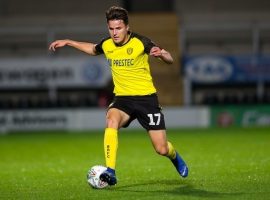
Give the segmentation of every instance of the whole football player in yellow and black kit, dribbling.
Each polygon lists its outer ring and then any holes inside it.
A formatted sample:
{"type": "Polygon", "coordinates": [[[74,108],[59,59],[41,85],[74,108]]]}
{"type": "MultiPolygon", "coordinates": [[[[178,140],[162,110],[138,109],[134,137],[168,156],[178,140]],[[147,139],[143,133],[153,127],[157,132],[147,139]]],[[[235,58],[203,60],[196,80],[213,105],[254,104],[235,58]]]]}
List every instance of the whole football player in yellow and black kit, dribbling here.
{"type": "Polygon", "coordinates": [[[71,46],[93,56],[105,54],[111,67],[115,98],[106,115],[104,151],[107,170],[100,178],[109,185],[117,183],[115,164],[118,130],[128,127],[134,119],[147,130],[156,152],[168,157],[178,173],[186,177],[187,165],[166,138],[164,115],[158,103],[148,62],[150,55],[172,64],[171,54],[150,39],[131,32],[128,13],[124,8],[109,8],[106,18],[110,37],[99,44],[66,39],[56,40],[49,47],[55,51],[60,47],[71,46]]]}

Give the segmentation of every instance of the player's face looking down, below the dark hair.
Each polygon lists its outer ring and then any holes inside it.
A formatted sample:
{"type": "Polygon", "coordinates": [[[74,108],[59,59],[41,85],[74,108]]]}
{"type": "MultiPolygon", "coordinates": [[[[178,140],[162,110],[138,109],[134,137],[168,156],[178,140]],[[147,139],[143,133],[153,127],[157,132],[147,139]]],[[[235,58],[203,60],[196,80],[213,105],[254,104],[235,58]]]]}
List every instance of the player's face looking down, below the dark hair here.
{"type": "Polygon", "coordinates": [[[108,21],[108,29],[110,36],[115,44],[121,45],[128,41],[128,25],[123,20],[108,21]]]}

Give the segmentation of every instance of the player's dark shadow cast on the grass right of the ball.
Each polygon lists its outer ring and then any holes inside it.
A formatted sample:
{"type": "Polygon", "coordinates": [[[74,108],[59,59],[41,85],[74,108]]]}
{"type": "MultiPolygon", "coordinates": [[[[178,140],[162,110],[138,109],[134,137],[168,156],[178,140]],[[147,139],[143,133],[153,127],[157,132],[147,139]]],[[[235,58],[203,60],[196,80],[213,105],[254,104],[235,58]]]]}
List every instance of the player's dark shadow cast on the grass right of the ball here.
{"type": "Polygon", "coordinates": [[[222,192],[207,191],[203,189],[194,188],[192,185],[181,182],[179,180],[149,181],[144,183],[116,186],[114,189],[123,192],[153,193],[154,196],[158,194],[167,193],[175,196],[192,196],[204,198],[234,197],[243,194],[243,193],[222,193],[222,192]],[[169,190],[167,189],[168,185],[171,188],[169,190]],[[162,189],[162,186],[164,186],[164,189],[162,189]]]}

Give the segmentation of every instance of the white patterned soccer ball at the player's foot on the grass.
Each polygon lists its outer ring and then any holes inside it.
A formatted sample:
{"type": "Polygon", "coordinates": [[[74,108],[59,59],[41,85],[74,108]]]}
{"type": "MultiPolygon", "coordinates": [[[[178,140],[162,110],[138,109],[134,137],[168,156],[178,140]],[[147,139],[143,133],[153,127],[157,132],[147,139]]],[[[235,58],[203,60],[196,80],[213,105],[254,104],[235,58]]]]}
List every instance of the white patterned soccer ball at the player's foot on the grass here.
{"type": "Polygon", "coordinates": [[[107,168],[102,165],[93,166],[87,173],[87,182],[90,186],[96,189],[102,189],[108,186],[107,182],[100,180],[99,176],[102,174],[107,168]]]}

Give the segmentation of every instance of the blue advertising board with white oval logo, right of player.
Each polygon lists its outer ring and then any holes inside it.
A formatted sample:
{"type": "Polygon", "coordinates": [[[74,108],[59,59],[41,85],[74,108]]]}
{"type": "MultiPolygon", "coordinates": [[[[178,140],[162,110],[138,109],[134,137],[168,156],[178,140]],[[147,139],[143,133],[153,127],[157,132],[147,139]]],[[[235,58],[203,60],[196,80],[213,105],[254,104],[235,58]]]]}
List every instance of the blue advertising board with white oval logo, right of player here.
{"type": "Polygon", "coordinates": [[[270,56],[184,56],[183,67],[198,83],[270,81],[270,56]]]}

